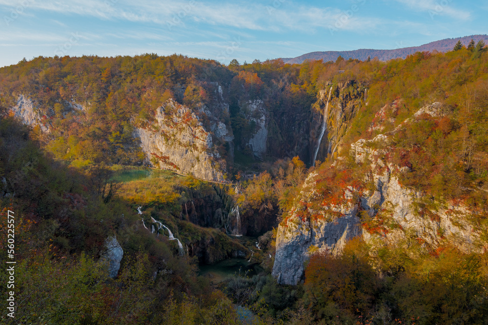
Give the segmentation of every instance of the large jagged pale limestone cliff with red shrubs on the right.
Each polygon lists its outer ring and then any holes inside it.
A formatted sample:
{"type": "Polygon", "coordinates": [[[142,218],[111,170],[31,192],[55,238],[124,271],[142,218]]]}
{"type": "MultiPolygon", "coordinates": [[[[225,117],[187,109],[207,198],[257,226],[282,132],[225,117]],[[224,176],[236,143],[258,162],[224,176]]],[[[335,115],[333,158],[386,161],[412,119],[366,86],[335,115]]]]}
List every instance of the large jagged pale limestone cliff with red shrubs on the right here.
{"type": "MultiPolygon", "coordinates": [[[[436,112],[440,109],[435,103],[431,107],[436,112]]],[[[425,108],[421,110],[421,114],[430,114],[425,108]]],[[[407,172],[407,167],[399,169],[387,162],[385,155],[391,149],[388,143],[389,137],[380,134],[351,144],[350,154],[356,162],[369,165],[370,173],[365,177],[373,183],[373,189],[355,192],[348,187],[344,192],[346,204],[325,206],[321,211],[308,208],[309,203],[320,200],[320,195],[315,188],[319,175],[311,173],[307,177],[298,203],[278,228],[272,274],[279,283],[296,285],[303,279],[304,262],[311,253],[327,250],[339,254],[346,241],[355,236],[362,236],[373,249],[417,242],[432,248],[450,243],[466,252],[483,250],[486,243],[480,239],[480,229],[468,222],[470,212],[466,207],[435,202],[433,206],[438,208],[429,210],[422,205],[428,198],[400,184],[398,176],[407,172]],[[310,214],[324,217],[310,218],[310,214]],[[369,223],[364,221],[366,215],[369,223]]]]}

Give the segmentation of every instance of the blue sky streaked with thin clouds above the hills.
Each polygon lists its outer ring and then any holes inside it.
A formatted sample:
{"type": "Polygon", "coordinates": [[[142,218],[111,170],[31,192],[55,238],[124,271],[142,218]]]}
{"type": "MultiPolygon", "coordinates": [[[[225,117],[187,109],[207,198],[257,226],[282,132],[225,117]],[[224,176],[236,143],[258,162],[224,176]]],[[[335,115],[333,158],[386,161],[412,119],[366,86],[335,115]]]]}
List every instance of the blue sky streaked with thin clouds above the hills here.
{"type": "Polygon", "coordinates": [[[394,49],[488,34],[487,1],[0,0],[0,66],[23,57],[216,59],[394,49]]]}

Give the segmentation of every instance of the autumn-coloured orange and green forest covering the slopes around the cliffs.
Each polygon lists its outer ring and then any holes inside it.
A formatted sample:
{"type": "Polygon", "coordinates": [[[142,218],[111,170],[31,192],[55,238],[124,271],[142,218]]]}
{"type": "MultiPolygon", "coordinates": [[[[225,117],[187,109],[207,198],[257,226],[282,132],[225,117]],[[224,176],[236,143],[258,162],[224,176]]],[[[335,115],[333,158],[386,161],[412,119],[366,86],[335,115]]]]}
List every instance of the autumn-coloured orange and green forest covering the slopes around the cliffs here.
{"type": "MultiPolygon", "coordinates": [[[[295,65],[233,60],[228,66],[177,55],[38,57],[1,68],[0,246],[4,261],[4,225],[7,210],[14,210],[18,303],[15,321],[2,314],[2,322],[486,324],[486,52],[479,43],[387,62],[340,57],[295,65]],[[324,90],[332,98],[328,141],[337,149],[313,164],[316,139],[301,132],[311,132],[322,116],[317,107],[324,90]],[[19,96],[31,98],[41,116],[30,126],[12,111],[19,96]],[[205,130],[214,122],[204,107],[228,104],[218,119],[234,138],[213,137],[227,164],[228,185],[164,171],[116,180],[117,171],[143,170],[149,163],[134,130],[154,125],[157,109],[169,99],[189,108],[205,130]],[[249,146],[259,126],[243,104],[256,100],[263,101],[269,121],[261,157],[249,146]],[[428,114],[432,107],[435,114],[428,114]],[[387,142],[373,141],[378,135],[387,142]],[[354,159],[351,144],[360,139],[383,164],[354,159]],[[356,238],[339,255],[310,250],[304,281],[279,285],[270,275],[278,224],[286,227],[297,215],[304,222],[323,218],[310,211],[373,191],[371,175],[386,169],[416,193],[418,218],[436,222],[439,210],[464,207],[468,218],[459,224],[479,234],[475,249],[458,247],[443,233],[436,234],[435,245],[414,234],[411,241],[375,245],[356,238]],[[310,173],[316,195],[305,201],[310,173]],[[236,206],[242,227],[261,235],[260,249],[229,237],[216,221],[220,209],[230,227],[230,212],[224,211],[236,206]],[[153,218],[181,240],[183,254],[164,229],[145,229],[153,218]],[[114,279],[102,257],[111,236],[124,251],[114,279]],[[217,285],[198,276],[199,265],[236,254],[261,272],[235,274],[217,285]],[[247,323],[236,306],[252,314],[247,323]]],[[[360,205],[358,211],[363,231],[372,235],[399,229],[386,209],[372,216],[360,205]]],[[[330,218],[334,222],[341,213],[331,210],[330,218]]],[[[3,267],[0,279],[6,282],[3,267]]]]}

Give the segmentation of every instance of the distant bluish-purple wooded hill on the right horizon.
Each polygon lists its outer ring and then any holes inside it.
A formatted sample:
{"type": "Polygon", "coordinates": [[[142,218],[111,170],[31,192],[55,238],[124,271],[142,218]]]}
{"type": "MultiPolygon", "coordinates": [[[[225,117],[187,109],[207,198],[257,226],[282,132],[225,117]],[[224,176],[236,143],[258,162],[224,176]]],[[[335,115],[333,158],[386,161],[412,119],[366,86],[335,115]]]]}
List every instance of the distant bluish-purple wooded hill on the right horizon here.
{"type": "Polygon", "coordinates": [[[373,49],[359,49],[354,51],[327,51],[327,52],[310,52],[304,54],[300,57],[287,57],[283,58],[285,63],[302,63],[305,60],[324,60],[327,61],[335,61],[339,56],[348,59],[350,57],[357,58],[359,60],[366,60],[367,57],[378,57],[381,61],[387,61],[392,58],[402,57],[406,58],[410,54],[414,54],[416,52],[424,52],[429,51],[432,52],[433,50],[437,50],[439,52],[448,52],[451,51],[454,45],[457,43],[458,40],[468,46],[468,43],[471,39],[474,39],[475,42],[479,40],[484,40],[485,43],[488,44],[488,35],[471,35],[465,36],[461,38],[446,38],[442,40],[437,40],[435,42],[431,42],[428,44],[424,44],[421,46],[413,46],[413,47],[405,47],[401,49],[395,50],[373,50],[373,49]]]}

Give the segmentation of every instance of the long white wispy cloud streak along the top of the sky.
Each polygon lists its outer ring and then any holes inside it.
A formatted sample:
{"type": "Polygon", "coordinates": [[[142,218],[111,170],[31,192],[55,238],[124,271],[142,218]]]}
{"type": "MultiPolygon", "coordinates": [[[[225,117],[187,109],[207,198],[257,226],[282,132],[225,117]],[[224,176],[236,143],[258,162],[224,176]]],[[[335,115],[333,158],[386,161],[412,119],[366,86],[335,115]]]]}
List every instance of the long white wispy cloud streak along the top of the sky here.
{"type": "MultiPolygon", "coordinates": [[[[17,0],[0,0],[0,5],[15,8],[17,0]]],[[[214,26],[228,26],[255,31],[284,32],[301,30],[314,32],[327,27],[344,15],[338,8],[318,8],[285,2],[270,10],[269,5],[253,2],[215,3],[181,0],[146,0],[134,3],[128,0],[31,0],[28,7],[64,15],[91,16],[99,19],[120,19],[166,25],[173,19],[214,26]]],[[[376,19],[359,15],[347,19],[340,29],[354,30],[377,25],[376,19]]]]}

